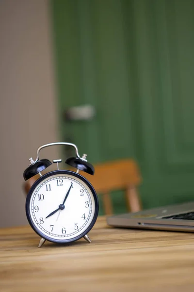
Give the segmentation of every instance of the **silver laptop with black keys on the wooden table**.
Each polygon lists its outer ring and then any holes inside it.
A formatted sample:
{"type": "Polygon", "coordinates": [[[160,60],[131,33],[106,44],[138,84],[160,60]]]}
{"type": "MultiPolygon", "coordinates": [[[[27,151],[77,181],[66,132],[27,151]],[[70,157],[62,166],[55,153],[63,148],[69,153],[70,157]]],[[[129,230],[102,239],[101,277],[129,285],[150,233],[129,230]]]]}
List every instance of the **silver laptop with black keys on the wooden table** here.
{"type": "Polygon", "coordinates": [[[114,227],[194,232],[194,202],[107,217],[114,227]]]}

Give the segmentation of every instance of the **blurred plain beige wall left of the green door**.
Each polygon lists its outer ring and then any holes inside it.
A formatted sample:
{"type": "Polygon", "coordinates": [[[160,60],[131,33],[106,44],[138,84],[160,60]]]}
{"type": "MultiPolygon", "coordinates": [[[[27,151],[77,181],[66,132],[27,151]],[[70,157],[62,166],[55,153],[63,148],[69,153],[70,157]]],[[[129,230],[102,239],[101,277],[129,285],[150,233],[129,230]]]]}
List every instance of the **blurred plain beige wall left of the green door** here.
{"type": "Polygon", "coordinates": [[[0,0],[0,227],[27,223],[23,171],[58,140],[48,3],[0,0]]]}

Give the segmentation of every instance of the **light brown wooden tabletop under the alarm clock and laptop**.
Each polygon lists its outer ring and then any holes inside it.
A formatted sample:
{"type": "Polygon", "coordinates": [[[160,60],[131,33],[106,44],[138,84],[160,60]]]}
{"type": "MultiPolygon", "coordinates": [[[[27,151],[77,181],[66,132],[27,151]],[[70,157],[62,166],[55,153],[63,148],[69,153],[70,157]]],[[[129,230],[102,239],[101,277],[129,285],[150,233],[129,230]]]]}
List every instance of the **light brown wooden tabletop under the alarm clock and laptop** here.
{"type": "Polygon", "coordinates": [[[90,237],[38,248],[29,226],[0,229],[0,291],[194,291],[194,234],[114,229],[99,217],[90,237]]]}

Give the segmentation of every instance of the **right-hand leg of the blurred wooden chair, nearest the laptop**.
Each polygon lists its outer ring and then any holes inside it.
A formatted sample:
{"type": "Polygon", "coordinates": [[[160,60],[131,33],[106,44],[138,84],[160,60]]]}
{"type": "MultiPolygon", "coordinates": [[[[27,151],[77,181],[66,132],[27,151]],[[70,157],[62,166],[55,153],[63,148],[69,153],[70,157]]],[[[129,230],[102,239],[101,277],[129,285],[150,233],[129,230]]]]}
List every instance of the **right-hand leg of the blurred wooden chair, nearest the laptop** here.
{"type": "Polygon", "coordinates": [[[138,212],[142,210],[142,204],[135,186],[130,185],[128,187],[126,191],[126,202],[129,212],[138,212]]]}

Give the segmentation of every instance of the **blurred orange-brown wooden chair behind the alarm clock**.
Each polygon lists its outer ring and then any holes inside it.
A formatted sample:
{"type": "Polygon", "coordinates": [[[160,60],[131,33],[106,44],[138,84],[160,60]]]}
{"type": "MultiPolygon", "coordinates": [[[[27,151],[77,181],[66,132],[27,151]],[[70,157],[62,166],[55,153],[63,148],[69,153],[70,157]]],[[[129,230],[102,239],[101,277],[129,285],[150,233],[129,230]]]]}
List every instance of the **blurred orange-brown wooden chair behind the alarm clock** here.
{"type": "MultiPolygon", "coordinates": [[[[125,199],[129,212],[137,212],[142,209],[141,200],[137,191],[137,186],[141,183],[141,176],[135,161],[125,159],[96,164],[94,176],[83,171],[80,171],[80,174],[92,183],[97,194],[102,195],[103,208],[106,215],[113,214],[110,193],[114,190],[125,190],[125,199]]],[[[26,194],[38,178],[39,175],[36,175],[25,182],[24,190],[26,194]]]]}

